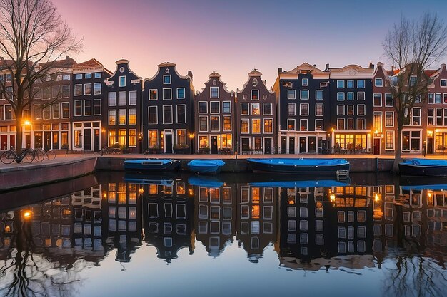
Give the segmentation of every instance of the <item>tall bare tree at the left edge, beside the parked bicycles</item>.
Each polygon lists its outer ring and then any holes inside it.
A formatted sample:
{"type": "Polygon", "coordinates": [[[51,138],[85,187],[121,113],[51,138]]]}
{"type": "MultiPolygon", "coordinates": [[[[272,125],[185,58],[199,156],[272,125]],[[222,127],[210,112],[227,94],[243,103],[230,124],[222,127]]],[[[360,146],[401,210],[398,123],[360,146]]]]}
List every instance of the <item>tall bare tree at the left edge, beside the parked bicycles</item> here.
{"type": "Polygon", "coordinates": [[[21,151],[23,112],[31,110],[35,83],[60,71],[55,61],[82,48],[50,0],[0,0],[0,71],[11,73],[11,85],[0,80],[0,93],[16,116],[16,150],[21,151]],[[9,87],[9,88],[7,88],[9,87]]]}

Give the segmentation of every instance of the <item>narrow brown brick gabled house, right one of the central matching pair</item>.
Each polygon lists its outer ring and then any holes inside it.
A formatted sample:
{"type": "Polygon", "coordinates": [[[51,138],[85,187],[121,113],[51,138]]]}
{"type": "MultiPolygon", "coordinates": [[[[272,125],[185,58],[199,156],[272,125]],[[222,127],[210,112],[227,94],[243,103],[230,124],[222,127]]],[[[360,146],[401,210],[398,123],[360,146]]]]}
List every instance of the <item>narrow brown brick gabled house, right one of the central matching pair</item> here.
{"type": "Polygon", "coordinates": [[[262,73],[248,73],[248,81],[237,90],[236,123],[238,151],[241,153],[276,152],[276,94],[268,90],[262,73]]]}

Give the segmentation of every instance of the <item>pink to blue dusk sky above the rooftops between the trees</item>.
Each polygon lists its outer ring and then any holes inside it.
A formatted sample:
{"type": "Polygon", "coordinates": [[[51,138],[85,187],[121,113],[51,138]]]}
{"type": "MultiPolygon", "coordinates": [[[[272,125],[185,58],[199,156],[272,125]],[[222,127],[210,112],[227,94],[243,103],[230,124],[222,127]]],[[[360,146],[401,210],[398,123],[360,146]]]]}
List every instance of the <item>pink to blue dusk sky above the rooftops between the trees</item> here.
{"type": "Polygon", "coordinates": [[[181,75],[193,71],[196,90],[212,71],[236,90],[253,68],[270,88],[279,67],[386,63],[381,43],[401,14],[447,12],[445,0],[53,2],[74,33],[84,36],[84,52],[72,55],[78,63],[96,58],[113,72],[115,61],[126,58],[136,74],[151,78],[159,63],[169,61],[181,75]]]}

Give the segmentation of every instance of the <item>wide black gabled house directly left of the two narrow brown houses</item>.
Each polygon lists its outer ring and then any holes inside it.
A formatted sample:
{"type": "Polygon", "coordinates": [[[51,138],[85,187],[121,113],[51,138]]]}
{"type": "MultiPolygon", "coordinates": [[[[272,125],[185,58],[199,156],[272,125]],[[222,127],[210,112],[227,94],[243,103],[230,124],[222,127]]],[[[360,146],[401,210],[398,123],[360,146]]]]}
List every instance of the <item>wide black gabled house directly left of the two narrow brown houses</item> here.
{"type": "Polygon", "coordinates": [[[192,71],[180,75],[174,63],[161,63],[144,80],[142,129],[144,150],[190,152],[194,137],[192,71]],[[190,138],[191,137],[191,138],[190,138]]]}

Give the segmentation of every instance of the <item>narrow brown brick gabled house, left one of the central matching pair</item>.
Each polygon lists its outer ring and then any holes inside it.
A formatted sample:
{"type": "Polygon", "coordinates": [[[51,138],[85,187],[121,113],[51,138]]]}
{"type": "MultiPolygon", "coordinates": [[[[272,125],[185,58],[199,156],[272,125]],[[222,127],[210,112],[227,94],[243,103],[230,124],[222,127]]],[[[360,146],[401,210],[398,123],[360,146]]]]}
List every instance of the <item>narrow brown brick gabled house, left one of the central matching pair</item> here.
{"type": "Polygon", "coordinates": [[[217,154],[233,151],[234,93],[226,89],[221,75],[213,71],[205,88],[194,99],[195,147],[199,152],[217,154]]]}

